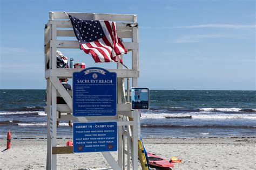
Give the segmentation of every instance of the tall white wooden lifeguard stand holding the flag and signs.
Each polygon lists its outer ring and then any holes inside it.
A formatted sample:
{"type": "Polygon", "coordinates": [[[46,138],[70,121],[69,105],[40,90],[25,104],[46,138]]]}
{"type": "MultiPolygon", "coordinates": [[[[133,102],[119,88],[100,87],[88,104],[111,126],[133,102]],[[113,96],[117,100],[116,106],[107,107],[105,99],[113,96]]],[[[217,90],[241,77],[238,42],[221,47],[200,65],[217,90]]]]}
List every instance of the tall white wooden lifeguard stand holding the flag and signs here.
{"type": "MultiPolygon", "coordinates": [[[[123,42],[128,52],[132,53],[131,69],[124,69],[120,63],[117,68],[108,69],[117,73],[117,116],[111,117],[73,117],[72,93],[66,91],[59,78],[72,79],[74,72],[82,69],[56,68],[57,48],[79,48],[77,40],[60,40],[60,37],[75,37],[69,17],[64,12],[49,12],[49,22],[44,30],[45,47],[45,79],[47,81],[47,162],[46,169],[57,168],[57,154],[73,153],[72,147],[57,147],[57,121],[88,122],[95,120],[117,121],[118,125],[118,160],[114,160],[110,152],[102,152],[113,169],[138,169],[138,137],[140,136],[140,114],[138,110],[131,110],[130,78],[132,87],[137,87],[139,77],[139,44],[137,15],[120,15],[105,13],[73,13],[70,15],[84,20],[109,20],[117,22],[119,38],[129,38],[130,42],[123,42]],[[58,40],[57,40],[57,37],[58,40]],[[46,63],[50,61],[50,68],[46,63]],[[126,79],[126,80],[125,80],[126,79]],[[125,84],[126,89],[125,89],[125,84]],[[66,104],[57,104],[57,96],[62,96],[66,104]],[[58,112],[61,112],[59,117],[58,112]],[[132,160],[132,165],[130,161],[132,160]]],[[[84,153],[86,155],[86,153],[84,153]]],[[[93,159],[93,158],[92,158],[93,159]]]]}

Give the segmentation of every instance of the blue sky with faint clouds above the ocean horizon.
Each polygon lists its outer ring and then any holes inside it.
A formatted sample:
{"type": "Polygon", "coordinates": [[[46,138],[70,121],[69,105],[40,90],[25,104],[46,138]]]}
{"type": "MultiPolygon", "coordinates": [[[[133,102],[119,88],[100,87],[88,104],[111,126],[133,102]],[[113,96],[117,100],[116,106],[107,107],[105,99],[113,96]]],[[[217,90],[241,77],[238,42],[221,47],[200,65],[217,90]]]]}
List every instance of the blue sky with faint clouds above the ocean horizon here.
{"type": "MultiPolygon", "coordinates": [[[[45,89],[44,25],[49,11],[138,15],[139,87],[256,90],[255,1],[0,0],[0,89],[45,89]]],[[[79,49],[60,49],[86,67],[79,49]]],[[[131,54],[123,56],[130,66],[131,54]]]]}

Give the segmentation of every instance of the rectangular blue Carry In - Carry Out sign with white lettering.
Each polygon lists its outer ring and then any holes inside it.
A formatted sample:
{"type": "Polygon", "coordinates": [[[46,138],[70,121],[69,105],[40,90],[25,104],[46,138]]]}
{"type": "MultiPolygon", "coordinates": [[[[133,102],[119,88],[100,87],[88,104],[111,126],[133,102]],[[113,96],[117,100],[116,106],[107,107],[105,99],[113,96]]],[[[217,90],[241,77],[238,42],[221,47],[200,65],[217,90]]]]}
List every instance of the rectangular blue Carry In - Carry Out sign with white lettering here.
{"type": "Polygon", "coordinates": [[[117,123],[74,123],[73,152],[117,151],[117,123]]]}

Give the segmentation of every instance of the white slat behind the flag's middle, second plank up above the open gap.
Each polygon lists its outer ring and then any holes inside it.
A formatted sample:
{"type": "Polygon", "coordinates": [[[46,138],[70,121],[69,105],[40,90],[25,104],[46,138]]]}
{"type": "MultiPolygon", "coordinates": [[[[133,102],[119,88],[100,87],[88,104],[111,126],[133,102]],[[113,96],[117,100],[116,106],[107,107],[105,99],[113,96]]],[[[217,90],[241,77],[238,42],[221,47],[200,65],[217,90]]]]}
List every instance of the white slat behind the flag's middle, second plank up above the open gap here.
{"type": "MultiPolygon", "coordinates": [[[[57,30],[58,37],[75,37],[73,30],[57,30]]],[[[132,38],[131,31],[117,31],[117,36],[119,38],[132,38]]],[[[50,40],[48,40],[50,41],[50,40]]]]}

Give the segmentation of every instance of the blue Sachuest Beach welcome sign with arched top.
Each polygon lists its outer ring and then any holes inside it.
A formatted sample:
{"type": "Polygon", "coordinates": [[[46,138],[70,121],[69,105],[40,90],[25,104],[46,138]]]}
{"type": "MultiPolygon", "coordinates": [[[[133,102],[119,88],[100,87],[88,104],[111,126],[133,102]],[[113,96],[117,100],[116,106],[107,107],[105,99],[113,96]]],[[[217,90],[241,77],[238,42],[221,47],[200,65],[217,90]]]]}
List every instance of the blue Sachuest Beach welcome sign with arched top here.
{"type": "Polygon", "coordinates": [[[117,74],[91,67],[73,73],[73,116],[116,116],[117,74]]]}

